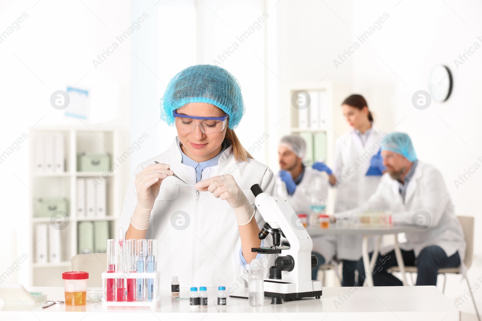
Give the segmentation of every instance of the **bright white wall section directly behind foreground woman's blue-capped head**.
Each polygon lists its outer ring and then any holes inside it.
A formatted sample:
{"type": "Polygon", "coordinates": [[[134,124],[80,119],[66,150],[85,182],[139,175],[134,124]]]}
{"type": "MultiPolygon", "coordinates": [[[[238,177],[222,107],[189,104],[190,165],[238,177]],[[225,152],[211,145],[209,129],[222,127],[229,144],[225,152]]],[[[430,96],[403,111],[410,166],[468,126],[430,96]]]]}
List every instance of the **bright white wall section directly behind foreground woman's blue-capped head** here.
{"type": "MultiPolygon", "coordinates": [[[[149,7],[151,4],[133,2],[133,12],[151,10],[149,7]]],[[[133,56],[131,137],[134,139],[135,133],[143,130],[152,135],[148,149],[131,157],[131,168],[172,144],[176,131],[159,122],[159,103],[169,80],[194,64],[218,64],[239,80],[246,113],[236,133],[246,148],[253,146],[265,131],[266,76],[256,55],[265,58],[266,22],[256,26],[242,43],[237,37],[262,16],[263,1],[161,1],[151,11],[149,29],[137,34],[133,43],[133,53],[142,55],[145,65],[133,56]],[[229,49],[234,42],[239,48],[229,49]],[[225,50],[233,52],[221,60],[218,55],[225,50]]],[[[256,159],[266,162],[266,154],[266,144],[255,145],[256,159]]]]}

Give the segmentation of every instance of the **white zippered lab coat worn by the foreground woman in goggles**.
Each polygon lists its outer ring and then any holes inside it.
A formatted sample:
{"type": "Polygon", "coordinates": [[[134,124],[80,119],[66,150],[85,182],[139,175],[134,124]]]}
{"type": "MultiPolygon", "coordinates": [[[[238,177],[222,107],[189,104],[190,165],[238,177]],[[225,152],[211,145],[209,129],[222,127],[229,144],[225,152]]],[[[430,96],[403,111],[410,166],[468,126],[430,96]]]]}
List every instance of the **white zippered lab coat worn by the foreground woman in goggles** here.
{"type": "MultiPolygon", "coordinates": [[[[129,227],[137,203],[135,174],[147,165],[154,164],[155,160],[169,164],[187,184],[196,183],[195,169],[181,163],[177,141],[176,137],[166,152],[141,163],[134,170],[120,217],[120,227],[124,231],[129,227]]],[[[230,146],[219,157],[218,165],[203,170],[201,180],[231,174],[253,206],[254,195],[250,190],[253,184],[260,184],[263,191],[276,195],[274,175],[268,166],[254,159],[236,162],[231,152],[230,146]]],[[[265,221],[257,209],[254,217],[261,228],[265,221]]],[[[161,288],[168,288],[173,276],[179,277],[181,286],[226,286],[227,289],[244,286],[244,279],[240,277],[243,273],[241,238],[234,211],[226,200],[215,198],[210,192],[198,192],[192,185],[186,186],[173,176],[167,177],[161,183],[151,212],[147,239],[159,242],[156,261],[157,270],[161,271],[161,288]],[[187,228],[181,230],[179,225],[187,225],[187,228]]],[[[273,265],[268,262],[271,256],[264,256],[267,257],[264,257],[263,265],[273,265]]],[[[268,275],[268,269],[264,271],[268,275]]]]}

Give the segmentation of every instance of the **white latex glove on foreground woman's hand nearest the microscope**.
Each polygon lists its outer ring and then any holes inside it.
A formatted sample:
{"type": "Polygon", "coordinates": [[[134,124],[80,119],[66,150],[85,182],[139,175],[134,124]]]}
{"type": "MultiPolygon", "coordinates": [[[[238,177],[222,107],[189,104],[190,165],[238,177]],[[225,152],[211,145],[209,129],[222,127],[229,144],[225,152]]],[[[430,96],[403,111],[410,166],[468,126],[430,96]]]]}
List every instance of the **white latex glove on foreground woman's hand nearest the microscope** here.
{"type": "Polygon", "coordinates": [[[238,183],[232,175],[221,175],[201,180],[194,185],[196,190],[213,193],[214,197],[228,201],[234,209],[238,225],[246,225],[254,216],[254,208],[249,204],[248,198],[242,193],[238,183]]]}

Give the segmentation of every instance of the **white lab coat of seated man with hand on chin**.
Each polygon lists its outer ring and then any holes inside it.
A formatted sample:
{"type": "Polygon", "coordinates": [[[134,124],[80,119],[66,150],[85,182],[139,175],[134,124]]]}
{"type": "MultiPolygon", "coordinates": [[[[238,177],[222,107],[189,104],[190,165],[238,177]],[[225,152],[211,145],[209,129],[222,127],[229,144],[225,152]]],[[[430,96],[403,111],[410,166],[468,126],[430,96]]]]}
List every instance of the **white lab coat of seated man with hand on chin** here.
{"type": "MultiPolygon", "coordinates": [[[[311,210],[309,208],[309,193],[307,192],[313,188],[316,178],[319,178],[321,180],[322,190],[320,199],[324,198],[326,201],[329,185],[328,179],[320,171],[311,167],[305,167],[305,174],[303,175],[303,179],[296,186],[296,190],[293,195],[288,195],[288,192],[286,190],[286,184],[281,180],[279,175],[276,175],[278,196],[285,197],[288,200],[288,203],[290,203],[291,207],[293,207],[295,212],[303,211],[306,213],[310,213],[311,210]]],[[[315,223],[312,221],[311,224],[315,223]]],[[[335,235],[323,235],[312,238],[313,251],[320,253],[324,257],[325,263],[330,262],[335,254],[335,240],[335,235]]]]}

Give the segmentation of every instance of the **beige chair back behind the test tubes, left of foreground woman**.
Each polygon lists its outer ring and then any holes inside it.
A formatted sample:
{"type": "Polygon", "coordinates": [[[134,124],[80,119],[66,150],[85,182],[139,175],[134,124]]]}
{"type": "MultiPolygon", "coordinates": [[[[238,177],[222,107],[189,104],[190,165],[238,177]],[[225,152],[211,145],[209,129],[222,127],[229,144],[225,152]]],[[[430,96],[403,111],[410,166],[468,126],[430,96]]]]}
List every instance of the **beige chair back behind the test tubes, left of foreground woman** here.
{"type": "Polygon", "coordinates": [[[74,255],[70,260],[72,271],[89,272],[88,287],[102,287],[102,272],[107,270],[107,253],[74,255]]]}

